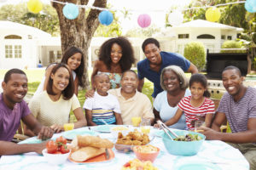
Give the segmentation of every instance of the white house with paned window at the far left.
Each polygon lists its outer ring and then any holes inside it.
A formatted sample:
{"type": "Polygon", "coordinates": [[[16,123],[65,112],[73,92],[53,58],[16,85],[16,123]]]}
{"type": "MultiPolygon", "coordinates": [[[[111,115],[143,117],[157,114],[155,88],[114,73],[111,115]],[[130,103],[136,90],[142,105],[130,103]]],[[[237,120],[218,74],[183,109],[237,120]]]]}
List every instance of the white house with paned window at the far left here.
{"type": "Polygon", "coordinates": [[[0,68],[35,68],[38,44],[50,34],[15,22],[0,20],[0,68]]]}

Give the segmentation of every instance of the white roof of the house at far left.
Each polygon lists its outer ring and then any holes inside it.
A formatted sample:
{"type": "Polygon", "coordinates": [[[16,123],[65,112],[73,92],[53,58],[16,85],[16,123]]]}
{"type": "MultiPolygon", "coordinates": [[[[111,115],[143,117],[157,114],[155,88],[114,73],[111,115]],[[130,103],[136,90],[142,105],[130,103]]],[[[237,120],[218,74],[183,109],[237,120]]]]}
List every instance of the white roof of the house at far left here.
{"type": "Polygon", "coordinates": [[[38,28],[32,26],[22,25],[20,23],[11,22],[8,20],[0,20],[0,30],[8,30],[17,32],[20,30],[22,32],[27,32],[30,35],[34,35],[34,37],[51,37],[51,35],[45,31],[39,30],[38,28]]]}

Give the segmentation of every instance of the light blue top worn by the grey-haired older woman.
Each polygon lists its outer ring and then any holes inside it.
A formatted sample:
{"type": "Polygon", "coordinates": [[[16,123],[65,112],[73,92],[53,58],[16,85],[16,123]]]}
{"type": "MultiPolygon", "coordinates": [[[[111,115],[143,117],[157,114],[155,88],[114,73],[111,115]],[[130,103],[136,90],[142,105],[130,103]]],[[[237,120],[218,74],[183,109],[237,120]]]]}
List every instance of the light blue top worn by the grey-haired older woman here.
{"type": "MultiPolygon", "coordinates": [[[[191,93],[188,88],[186,89],[184,97],[189,95],[191,95],[191,93]]],[[[163,122],[166,122],[170,120],[173,116],[175,116],[177,111],[177,105],[175,107],[172,107],[171,105],[169,105],[167,100],[167,92],[163,91],[160,94],[157,94],[156,98],[154,99],[154,109],[156,111],[159,111],[161,120],[163,122]]],[[[186,129],[187,125],[186,125],[185,115],[181,116],[181,118],[178,120],[177,123],[169,127],[177,128],[181,130],[186,129]]]]}

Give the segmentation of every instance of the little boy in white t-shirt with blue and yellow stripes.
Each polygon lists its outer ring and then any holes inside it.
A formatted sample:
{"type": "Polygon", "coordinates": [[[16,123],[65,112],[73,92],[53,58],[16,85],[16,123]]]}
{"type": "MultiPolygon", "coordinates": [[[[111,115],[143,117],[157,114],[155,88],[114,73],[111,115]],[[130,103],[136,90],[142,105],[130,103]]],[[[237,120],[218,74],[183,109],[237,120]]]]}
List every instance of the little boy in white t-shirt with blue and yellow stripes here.
{"type": "Polygon", "coordinates": [[[93,88],[96,93],[93,98],[85,99],[84,109],[88,126],[108,124],[123,124],[118,99],[108,94],[110,82],[104,73],[93,77],[93,88]]]}

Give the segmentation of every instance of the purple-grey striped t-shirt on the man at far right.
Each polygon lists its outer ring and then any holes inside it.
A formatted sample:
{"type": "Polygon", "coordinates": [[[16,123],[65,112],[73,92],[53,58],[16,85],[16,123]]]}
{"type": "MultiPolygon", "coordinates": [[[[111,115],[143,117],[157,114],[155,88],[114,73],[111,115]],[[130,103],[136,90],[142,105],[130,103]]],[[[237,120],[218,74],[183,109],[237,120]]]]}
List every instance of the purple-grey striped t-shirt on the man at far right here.
{"type": "Polygon", "coordinates": [[[249,118],[256,117],[256,88],[248,87],[239,101],[225,93],[218,105],[218,112],[224,113],[232,133],[247,131],[249,118]]]}

